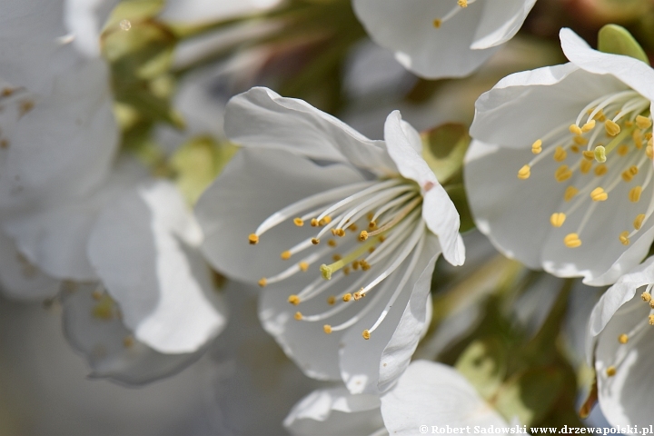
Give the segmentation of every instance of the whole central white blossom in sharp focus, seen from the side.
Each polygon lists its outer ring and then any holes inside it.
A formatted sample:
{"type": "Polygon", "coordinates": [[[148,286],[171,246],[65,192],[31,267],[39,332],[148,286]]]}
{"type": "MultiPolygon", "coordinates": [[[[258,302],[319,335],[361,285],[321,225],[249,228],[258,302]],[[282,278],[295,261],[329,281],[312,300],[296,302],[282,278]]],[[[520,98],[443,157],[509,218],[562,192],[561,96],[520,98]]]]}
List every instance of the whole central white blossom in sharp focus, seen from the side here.
{"type": "Polygon", "coordinates": [[[306,374],[387,389],[427,322],[438,254],[464,259],[419,135],[394,112],[372,141],[266,88],[232,99],[225,132],[243,150],[198,202],[206,257],[266,286],[263,325],[306,374]]]}

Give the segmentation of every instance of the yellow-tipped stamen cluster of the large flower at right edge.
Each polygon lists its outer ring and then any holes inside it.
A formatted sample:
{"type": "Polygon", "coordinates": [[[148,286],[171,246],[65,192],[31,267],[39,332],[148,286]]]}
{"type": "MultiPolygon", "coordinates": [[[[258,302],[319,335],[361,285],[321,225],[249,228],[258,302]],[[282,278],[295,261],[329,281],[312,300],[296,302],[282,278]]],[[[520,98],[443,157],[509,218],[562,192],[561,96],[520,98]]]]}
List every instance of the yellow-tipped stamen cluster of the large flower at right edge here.
{"type": "MultiPolygon", "coordinates": [[[[550,157],[560,163],[554,180],[568,183],[563,201],[570,205],[553,211],[551,225],[560,228],[570,215],[586,209],[575,220],[575,228],[567,229],[563,237],[567,247],[581,245],[580,235],[590,217],[621,183],[628,186],[630,203],[639,203],[641,193],[649,186],[653,173],[649,104],[648,99],[632,90],[604,95],[584,107],[573,124],[560,125],[531,145],[531,153],[536,156],[520,168],[518,178],[529,179],[532,167],[550,157]]],[[[629,230],[616,235],[620,243],[629,245],[630,238],[649,219],[654,212],[654,198],[640,209],[625,224],[629,230]]]]}

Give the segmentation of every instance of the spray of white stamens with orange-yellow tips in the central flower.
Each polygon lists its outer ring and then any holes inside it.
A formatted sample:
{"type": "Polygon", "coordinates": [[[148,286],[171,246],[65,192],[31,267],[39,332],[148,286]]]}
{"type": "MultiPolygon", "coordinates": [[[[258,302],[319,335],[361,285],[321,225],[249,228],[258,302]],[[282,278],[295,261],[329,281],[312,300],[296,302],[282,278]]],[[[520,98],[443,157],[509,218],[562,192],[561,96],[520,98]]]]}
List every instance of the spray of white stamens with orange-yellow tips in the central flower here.
{"type": "Polygon", "coordinates": [[[288,302],[299,305],[315,302],[316,297],[322,296],[322,303],[312,304],[317,313],[296,312],[295,319],[302,322],[340,321],[334,326],[325,323],[323,331],[326,333],[347,329],[361,321],[381,299],[387,299],[388,303],[377,321],[362,333],[364,339],[370,339],[408,282],[419,259],[426,232],[421,211],[419,186],[399,177],[352,183],[304,198],[273,213],[249,235],[249,242],[256,244],[263,233],[287,221],[292,221],[296,227],[310,223],[316,228],[311,237],[281,253],[284,261],[300,255],[299,261],[272,277],[262,278],[259,284],[263,287],[298,272],[320,271],[320,275],[301,292],[290,295],[288,302]],[[326,243],[322,243],[325,239],[326,243]],[[310,251],[312,253],[308,253],[310,251]],[[410,258],[411,252],[413,254],[399,285],[392,286],[392,289],[391,283],[380,285],[410,258]],[[327,259],[331,263],[327,263],[327,259]],[[312,265],[320,266],[315,268],[312,265]],[[359,302],[375,288],[376,292],[367,303],[352,306],[352,302],[359,302]],[[349,310],[352,310],[350,316],[343,316],[344,311],[349,310]]]}

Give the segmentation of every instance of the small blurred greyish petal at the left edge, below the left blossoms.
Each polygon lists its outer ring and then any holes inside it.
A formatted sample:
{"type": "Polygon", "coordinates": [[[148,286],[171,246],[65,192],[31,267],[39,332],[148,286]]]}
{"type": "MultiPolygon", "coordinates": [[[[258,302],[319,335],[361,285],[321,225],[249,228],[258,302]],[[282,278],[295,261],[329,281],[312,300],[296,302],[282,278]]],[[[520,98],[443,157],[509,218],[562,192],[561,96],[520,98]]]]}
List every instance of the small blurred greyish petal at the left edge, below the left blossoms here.
{"type": "Polygon", "coordinates": [[[19,253],[13,241],[0,232],[0,290],[20,300],[54,297],[61,282],[41,272],[19,253]]]}

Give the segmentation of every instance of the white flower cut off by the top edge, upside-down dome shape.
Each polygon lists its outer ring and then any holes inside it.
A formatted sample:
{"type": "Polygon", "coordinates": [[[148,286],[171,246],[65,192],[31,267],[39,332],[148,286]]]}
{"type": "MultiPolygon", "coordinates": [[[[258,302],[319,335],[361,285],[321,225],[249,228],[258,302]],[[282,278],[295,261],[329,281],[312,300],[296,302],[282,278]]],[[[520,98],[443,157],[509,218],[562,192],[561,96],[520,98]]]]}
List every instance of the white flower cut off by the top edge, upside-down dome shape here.
{"type": "Polygon", "coordinates": [[[520,30],[536,0],[353,0],[379,45],[428,78],[471,74],[520,30]]]}

